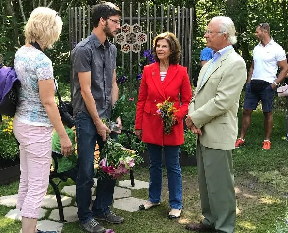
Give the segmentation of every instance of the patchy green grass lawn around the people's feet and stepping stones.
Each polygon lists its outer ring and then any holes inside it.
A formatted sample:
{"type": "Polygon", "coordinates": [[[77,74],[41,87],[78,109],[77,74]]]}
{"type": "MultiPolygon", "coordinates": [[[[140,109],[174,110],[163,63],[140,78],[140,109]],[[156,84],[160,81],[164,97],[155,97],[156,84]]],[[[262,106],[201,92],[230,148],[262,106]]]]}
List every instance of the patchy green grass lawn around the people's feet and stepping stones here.
{"type": "MultiPolygon", "coordinates": [[[[239,120],[241,119],[239,112],[239,120]]],[[[248,130],[246,145],[234,150],[235,186],[237,193],[237,233],[265,233],[272,230],[278,217],[285,211],[285,194],[288,192],[288,142],[284,140],[284,114],[274,113],[272,148],[261,150],[264,137],[263,114],[256,111],[248,130]]],[[[135,179],[149,181],[148,168],[137,167],[135,179]]],[[[129,179],[129,176],[123,179],[129,179]]],[[[169,198],[167,176],[164,171],[162,201],[159,207],[148,211],[127,212],[113,209],[125,218],[123,224],[113,225],[101,222],[116,233],[188,233],[184,225],[200,221],[202,218],[197,183],[196,167],[182,167],[183,206],[182,215],[177,220],[167,218],[169,198]]],[[[74,184],[71,180],[61,183],[74,184]]],[[[17,193],[18,182],[0,187],[0,196],[17,193]]],[[[49,193],[53,193],[49,188],[49,193]]],[[[132,190],[132,196],[147,199],[148,190],[132,190]]],[[[72,204],[74,204],[73,199],[72,204]]],[[[18,233],[20,221],[12,221],[4,216],[11,208],[0,206],[0,233],[18,233]]],[[[49,216],[48,211],[47,216],[49,216]]],[[[62,233],[84,233],[78,222],[65,223],[62,233]]]]}

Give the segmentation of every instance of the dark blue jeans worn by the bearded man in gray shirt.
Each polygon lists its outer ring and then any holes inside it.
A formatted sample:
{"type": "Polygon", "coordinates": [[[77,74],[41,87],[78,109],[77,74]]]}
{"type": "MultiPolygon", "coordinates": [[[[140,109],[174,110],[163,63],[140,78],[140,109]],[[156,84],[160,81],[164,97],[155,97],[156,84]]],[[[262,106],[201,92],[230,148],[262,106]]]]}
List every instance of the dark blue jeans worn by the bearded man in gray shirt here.
{"type": "MultiPolygon", "coordinates": [[[[100,216],[110,211],[116,179],[99,178],[96,187],[96,200],[92,210],[91,188],[94,184],[94,150],[96,141],[101,151],[104,142],[97,133],[94,122],[84,112],[76,114],[77,152],[78,152],[78,176],[76,183],[76,200],[78,217],[81,224],[90,221],[94,216],[100,216]]],[[[112,135],[111,135],[112,136],[112,135]]],[[[115,135],[114,135],[115,136],[115,135]]]]}

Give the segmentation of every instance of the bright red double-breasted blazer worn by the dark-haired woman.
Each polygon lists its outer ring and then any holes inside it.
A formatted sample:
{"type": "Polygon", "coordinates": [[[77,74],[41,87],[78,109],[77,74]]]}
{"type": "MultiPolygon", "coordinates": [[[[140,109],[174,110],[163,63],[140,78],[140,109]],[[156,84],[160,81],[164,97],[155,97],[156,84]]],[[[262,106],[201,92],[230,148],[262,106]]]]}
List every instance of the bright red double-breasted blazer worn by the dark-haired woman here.
{"type": "Polygon", "coordinates": [[[170,65],[166,77],[161,83],[159,63],[144,67],[137,102],[135,129],[142,129],[142,140],[156,145],[181,145],[184,143],[183,118],[188,114],[188,105],[192,98],[191,85],[187,68],[180,65],[170,65]],[[179,100],[181,94],[181,102],[179,100]],[[164,133],[162,120],[157,111],[157,103],[175,101],[179,109],[175,113],[176,123],[172,132],[164,133]]]}

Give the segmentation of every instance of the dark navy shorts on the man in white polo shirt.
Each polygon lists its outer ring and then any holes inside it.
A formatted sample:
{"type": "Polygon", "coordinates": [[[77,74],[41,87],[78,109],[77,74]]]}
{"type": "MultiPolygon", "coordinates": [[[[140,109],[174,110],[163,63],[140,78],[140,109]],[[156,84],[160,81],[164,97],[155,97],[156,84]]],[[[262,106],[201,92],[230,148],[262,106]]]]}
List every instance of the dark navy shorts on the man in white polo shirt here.
{"type": "Polygon", "coordinates": [[[262,110],[264,113],[272,111],[273,108],[273,97],[275,90],[272,89],[271,85],[268,85],[264,90],[256,93],[251,90],[251,82],[246,84],[246,94],[244,99],[244,109],[257,108],[258,103],[261,100],[262,110]]]}

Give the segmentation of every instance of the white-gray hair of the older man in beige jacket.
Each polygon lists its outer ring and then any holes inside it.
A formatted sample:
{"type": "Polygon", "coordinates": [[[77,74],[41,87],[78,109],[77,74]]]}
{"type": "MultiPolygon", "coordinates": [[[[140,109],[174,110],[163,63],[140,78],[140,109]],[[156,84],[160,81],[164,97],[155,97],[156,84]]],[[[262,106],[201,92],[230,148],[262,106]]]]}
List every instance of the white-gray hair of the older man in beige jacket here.
{"type": "Polygon", "coordinates": [[[235,36],[236,30],[235,30],[235,26],[231,18],[227,16],[216,16],[216,17],[213,17],[212,20],[219,21],[220,23],[219,31],[223,33],[227,33],[229,43],[231,43],[232,45],[237,43],[237,36],[235,36]]]}

